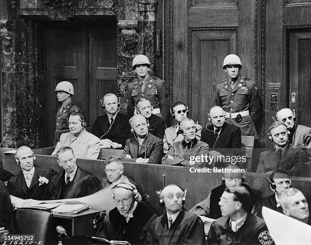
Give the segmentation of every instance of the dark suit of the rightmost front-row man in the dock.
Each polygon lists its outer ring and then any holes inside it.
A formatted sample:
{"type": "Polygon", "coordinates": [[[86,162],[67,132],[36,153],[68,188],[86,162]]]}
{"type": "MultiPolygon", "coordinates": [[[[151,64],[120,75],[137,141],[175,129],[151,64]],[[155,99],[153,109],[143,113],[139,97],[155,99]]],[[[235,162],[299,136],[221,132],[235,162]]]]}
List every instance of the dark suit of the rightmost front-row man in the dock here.
{"type": "Polygon", "coordinates": [[[306,173],[304,159],[305,152],[297,148],[289,147],[281,162],[278,162],[274,149],[264,151],[260,154],[256,172],[264,173],[281,169],[288,171],[290,176],[301,176],[306,173]]]}

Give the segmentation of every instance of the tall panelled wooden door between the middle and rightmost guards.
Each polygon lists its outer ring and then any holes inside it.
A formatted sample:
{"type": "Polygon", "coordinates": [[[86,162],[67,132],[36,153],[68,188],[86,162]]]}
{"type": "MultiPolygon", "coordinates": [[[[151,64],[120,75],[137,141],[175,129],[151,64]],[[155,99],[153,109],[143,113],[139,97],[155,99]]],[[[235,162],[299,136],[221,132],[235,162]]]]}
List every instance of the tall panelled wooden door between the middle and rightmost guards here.
{"type": "Polygon", "coordinates": [[[204,127],[214,106],[213,88],[226,78],[226,55],[239,55],[241,73],[256,80],[256,1],[179,0],[168,1],[167,8],[170,5],[172,38],[167,47],[172,48],[172,59],[166,76],[172,77],[171,103],[188,103],[190,116],[204,127]]]}

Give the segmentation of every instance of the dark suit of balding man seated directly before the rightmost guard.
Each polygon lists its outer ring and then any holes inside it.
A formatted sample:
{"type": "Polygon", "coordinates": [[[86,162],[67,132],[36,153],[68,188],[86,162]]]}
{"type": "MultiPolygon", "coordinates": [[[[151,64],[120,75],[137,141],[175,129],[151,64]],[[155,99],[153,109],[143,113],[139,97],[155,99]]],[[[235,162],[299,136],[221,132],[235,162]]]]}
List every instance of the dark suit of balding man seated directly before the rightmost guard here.
{"type": "MultiPolygon", "coordinates": [[[[231,152],[228,152],[228,149],[241,148],[241,130],[238,126],[225,122],[217,138],[217,136],[214,135],[214,126],[211,124],[208,125],[207,128],[204,127],[202,129],[201,141],[207,143],[210,149],[223,155],[229,155],[231,152]]],[[[234,152],[232,153],[234,154],[234,152]]]]}

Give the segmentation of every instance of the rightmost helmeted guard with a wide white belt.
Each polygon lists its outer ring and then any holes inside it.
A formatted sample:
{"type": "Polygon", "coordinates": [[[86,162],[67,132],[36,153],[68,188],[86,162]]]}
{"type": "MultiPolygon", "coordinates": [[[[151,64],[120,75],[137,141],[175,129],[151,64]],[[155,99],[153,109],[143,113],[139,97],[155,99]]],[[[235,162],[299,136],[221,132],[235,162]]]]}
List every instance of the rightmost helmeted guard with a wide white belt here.
{"type": "Polygon", "coordinates": [[[255,82],[240,75],[240,58],[229,54],[224,59],[223,68],[228,78],[216,85],[216,106],[224,109],[229,123],[241,129],[241,135],[255,136],[258,141],[254,121],[261,112],[261,99],[255,82]]]}

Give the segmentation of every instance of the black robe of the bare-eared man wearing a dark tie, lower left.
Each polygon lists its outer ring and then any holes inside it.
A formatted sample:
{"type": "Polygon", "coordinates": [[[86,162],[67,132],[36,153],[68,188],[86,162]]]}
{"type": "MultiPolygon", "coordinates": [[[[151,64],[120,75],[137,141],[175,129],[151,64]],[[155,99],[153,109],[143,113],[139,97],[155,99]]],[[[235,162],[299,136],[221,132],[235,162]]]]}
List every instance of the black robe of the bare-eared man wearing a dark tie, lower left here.
{"type": "Polygon", "coordinates": [[[102,189],[101,182],[92,173],[77,167],[73,180],[66,186],[65,170],[61,171],[49,181],[46,200],[68,199],[83,197],[102,189]]]}

